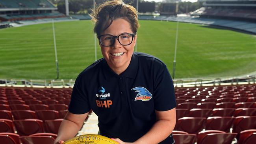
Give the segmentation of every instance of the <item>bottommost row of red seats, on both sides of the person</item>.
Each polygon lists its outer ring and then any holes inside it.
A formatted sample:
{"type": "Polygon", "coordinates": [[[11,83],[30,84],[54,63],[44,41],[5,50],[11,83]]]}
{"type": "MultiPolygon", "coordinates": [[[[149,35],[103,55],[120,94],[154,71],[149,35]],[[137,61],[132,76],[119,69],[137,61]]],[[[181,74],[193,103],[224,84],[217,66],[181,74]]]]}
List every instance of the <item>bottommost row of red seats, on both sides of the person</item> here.
{"type": "MultiPolygon", "coordinates": [[[[256,129],[241,131],[237,144],[254,144],[256,129]]],[[[30,136],[20,136],[14,133],[0,133],[0,141],[4,144],[53,144],[57,135],[52,133],[36,133],[30,136]]],[[[201,131],[197,135],[184,131],[173,131],[175,144],[231,144],[237,133],[224,131],[201,131]]]]}

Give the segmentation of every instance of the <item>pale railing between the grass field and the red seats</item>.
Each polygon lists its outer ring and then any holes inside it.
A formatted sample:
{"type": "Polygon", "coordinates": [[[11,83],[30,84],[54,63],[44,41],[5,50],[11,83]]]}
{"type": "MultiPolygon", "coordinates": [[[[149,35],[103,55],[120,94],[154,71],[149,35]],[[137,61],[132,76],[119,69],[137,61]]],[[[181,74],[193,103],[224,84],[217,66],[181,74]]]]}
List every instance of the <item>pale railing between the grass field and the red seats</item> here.
{"type": "MultiPolygon", "coordinates": [[[[173,79],[174,87],[202,87],[218,85],[255,84],[256,76],[218,77],[218,78],[180,78],[173,79]]],[[[72,88],[74,79],[0,79],[0,87],[45,87],[72,88]]]]}

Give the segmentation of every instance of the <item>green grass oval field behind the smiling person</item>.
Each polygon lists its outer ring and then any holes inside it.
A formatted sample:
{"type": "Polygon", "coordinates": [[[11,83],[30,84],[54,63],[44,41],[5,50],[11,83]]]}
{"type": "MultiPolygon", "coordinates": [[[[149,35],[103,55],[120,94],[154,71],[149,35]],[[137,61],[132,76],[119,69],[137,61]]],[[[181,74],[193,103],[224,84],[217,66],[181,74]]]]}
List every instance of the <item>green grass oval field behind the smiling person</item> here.
{"type": "MultiPolygon", "coordinates": [[[[138,52],[160,58],[173,72],[176,22],[140,20],[138,52]]],[[[56,22],[59,78],[75,79],[95,61],[89,20],[56,22]]],[[[98,42],[97,42],[98,44],[98,42]]],[[[238,76],[256,71],[256,37],[179,23],[175,78],[238,76]]],[[[101,58],[97,47],[97,58],[101,58]]],[[[55,79],[52,24],[0,29],[0,78],[55,79]]]]}

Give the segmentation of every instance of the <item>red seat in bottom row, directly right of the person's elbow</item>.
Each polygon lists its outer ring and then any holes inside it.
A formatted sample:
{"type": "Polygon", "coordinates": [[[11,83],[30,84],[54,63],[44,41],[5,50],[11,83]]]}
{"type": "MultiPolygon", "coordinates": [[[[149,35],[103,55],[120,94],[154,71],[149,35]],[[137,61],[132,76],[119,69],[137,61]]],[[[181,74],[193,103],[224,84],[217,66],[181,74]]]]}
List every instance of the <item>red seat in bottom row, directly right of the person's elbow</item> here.
{"type": "Polygon", "coordinates": [[[175,144],[194,144],[197,140],[195,134],[173,134],[175,144]]]}

